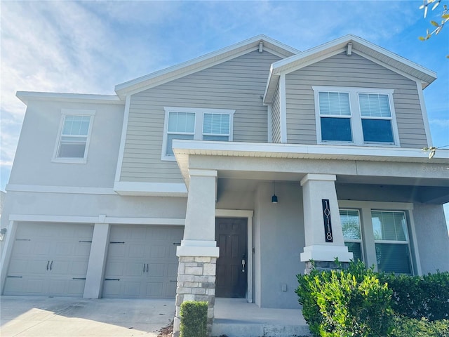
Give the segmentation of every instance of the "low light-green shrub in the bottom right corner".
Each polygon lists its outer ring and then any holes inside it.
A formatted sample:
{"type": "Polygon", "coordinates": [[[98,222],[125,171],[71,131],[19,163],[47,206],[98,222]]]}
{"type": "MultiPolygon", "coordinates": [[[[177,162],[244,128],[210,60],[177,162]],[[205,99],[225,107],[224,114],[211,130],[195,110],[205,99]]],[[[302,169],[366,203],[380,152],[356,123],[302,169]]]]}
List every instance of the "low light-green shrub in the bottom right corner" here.
{"type": "Polygon", "coordinates": [[[428,319],[396,317],[391,337],[449,337],[449,320],[429,322],[428,319]]]}

